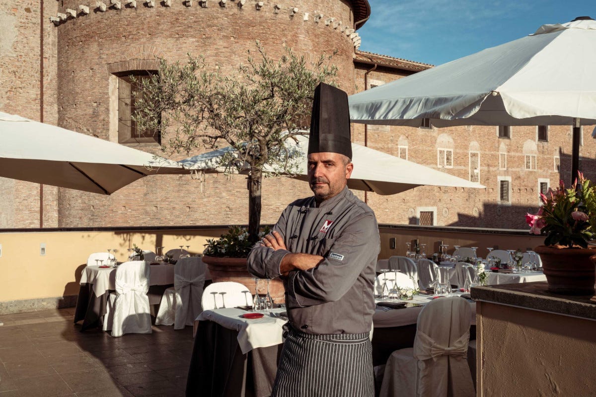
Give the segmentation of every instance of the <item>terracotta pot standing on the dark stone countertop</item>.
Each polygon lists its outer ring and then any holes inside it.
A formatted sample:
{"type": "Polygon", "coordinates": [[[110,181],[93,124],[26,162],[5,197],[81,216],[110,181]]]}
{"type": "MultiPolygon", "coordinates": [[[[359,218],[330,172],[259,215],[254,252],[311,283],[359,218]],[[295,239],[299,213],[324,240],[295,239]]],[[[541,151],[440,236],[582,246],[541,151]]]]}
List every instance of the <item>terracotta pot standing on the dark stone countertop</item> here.
{"type": "Polygon", "coordinates": [[[594,262],[591,248],[554,248],[537,246],[548,291],[564,295],[594,295],[594,262]]]}

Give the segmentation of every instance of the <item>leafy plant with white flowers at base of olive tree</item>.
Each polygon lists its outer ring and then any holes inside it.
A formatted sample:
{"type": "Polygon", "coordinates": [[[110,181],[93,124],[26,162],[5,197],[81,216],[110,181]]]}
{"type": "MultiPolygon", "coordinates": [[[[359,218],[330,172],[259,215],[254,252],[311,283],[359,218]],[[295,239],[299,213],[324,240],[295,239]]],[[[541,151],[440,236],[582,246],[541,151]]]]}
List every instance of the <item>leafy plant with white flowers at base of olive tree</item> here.
{"type": "MultiPolygon", "coordinates": [[[[269,233],[269,227],[262,228],[259,239],[269,233]]],[[[217,258],[246,258],[254,243],[249,240],[246,227],[230,226],[228,233],[219,239],[207,239],[203,255],[217,258]]]]}

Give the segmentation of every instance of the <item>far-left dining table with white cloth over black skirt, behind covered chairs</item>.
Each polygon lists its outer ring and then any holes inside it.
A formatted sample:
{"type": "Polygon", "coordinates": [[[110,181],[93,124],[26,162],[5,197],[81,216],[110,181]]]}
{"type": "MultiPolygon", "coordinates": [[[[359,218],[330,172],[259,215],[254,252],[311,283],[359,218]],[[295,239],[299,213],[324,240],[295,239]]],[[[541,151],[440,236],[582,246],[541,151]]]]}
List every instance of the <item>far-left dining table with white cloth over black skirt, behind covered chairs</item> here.
{"type": "MultiPolygon", "coordinates": [[[[110,292],[116,288],[117,267],[87,265],[80,278],[79,296],[75,308],[75,323],[83,320],[81,331],[100,326],[106,312],[110,292]]],[[[168,286],[174,283],[172,264],[152,264],[149,273],[150,286],[168,286]]]]}

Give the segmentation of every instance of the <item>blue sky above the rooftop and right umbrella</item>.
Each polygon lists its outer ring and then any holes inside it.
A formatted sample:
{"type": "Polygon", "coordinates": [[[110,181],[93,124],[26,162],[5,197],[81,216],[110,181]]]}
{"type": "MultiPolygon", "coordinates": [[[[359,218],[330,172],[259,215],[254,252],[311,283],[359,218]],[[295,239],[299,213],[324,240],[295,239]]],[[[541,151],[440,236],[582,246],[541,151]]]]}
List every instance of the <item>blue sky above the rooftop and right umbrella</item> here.
{"type": "Polygon", "coordinates": [[[575,17],[594,0],[368,0],[361,51],[440,65],[575,17]]]}

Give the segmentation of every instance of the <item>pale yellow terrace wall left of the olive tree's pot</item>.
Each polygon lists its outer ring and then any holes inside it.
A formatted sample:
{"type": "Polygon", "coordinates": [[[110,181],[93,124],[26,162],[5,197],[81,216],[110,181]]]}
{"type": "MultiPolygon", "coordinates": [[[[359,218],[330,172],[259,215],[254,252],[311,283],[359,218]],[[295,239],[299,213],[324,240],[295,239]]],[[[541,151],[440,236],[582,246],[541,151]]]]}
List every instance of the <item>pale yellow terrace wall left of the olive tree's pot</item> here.
{"type": "Polygon", "coordinates": [[[190,245],[191,253],[203,252],[207,238],[219,237],[224,229],[148,230],[142,232],[39,232],[0,233],[0,302],[18,299],[76,295],[80,274],[92,252],[119,250],[126,261],[127,248],[136,243],[155,251],[190,245]],[[46,254],[39,253],[45,243],[46,254]]]}

